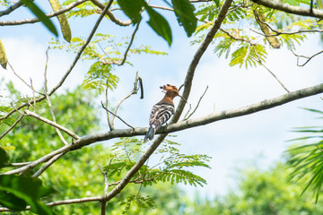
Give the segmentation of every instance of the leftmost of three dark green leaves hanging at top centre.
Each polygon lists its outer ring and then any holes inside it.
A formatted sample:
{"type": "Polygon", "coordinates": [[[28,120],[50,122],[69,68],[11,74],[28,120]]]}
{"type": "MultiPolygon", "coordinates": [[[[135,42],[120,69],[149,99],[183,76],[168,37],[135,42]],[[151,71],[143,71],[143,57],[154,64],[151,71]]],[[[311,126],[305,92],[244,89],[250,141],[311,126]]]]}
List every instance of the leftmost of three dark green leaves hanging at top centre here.
{"type": "Polygon", "coordinates": [[[146,4],[144,0],[118,0],[121,10],[131,19],[133,24],[141,19],[140,11],[146,4]]]}

